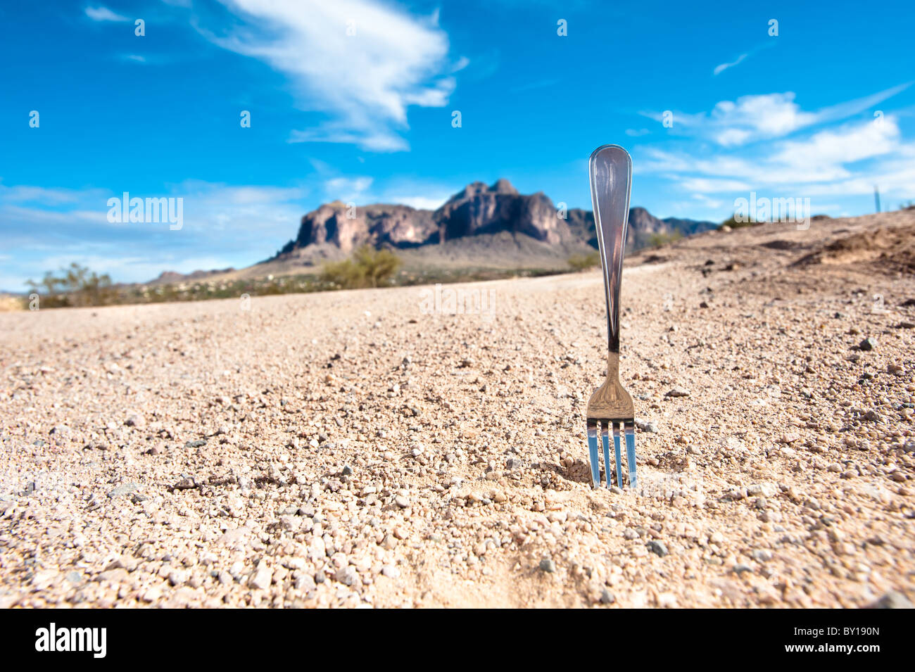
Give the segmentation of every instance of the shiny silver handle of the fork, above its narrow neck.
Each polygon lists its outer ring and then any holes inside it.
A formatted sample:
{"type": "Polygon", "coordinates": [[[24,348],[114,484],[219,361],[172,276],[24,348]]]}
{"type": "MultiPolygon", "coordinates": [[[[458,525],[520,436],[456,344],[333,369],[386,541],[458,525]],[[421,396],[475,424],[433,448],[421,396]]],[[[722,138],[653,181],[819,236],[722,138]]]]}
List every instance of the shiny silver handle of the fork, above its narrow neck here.
{"type": "Polygon", "coordinates": [[[632,159],[619,144],[604,144],[591,154],[588,173],[607,295],[608,348],[610,352],[619,352],[619,283],[626,254],[632,159]]]}

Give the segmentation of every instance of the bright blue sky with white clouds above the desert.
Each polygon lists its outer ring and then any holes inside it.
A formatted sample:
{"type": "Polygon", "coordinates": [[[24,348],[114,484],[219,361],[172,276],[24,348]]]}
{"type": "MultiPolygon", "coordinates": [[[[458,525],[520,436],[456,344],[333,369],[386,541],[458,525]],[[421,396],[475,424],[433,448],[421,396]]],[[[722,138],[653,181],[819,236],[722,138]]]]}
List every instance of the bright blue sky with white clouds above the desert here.
{"type": "Polygon", "coordinates": [[[434,208],[507,177],[589,208],[605,143],[660,217],[726,219],[750,191],[834,217],[872,212],[875,184],[885,209],[915,199],[910,2],[695,5],[0,5],[0,288],[70,261],[246,266],[336,198],[434,208]],[[182,197],[183,227],[109,222],[124,191],[182,197]]]}

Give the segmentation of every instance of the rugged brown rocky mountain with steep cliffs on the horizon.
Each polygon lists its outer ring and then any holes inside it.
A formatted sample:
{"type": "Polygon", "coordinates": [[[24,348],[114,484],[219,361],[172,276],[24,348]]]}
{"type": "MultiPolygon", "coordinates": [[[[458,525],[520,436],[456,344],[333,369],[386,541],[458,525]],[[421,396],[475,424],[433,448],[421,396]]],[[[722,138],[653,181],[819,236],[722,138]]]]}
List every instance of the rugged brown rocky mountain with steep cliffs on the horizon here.
{"type": "MultiPolygon", "coordinates": [[[[692,219],[658,219],[645,208],[631,208],[627,247],[645,247],[652,234],[690,235],[715,226],[692,219]]],[[[501,179],[491,186],[474,182],[435,211],[381,203],[358,208],[340,201],[322,205],[302,218],[296,238],[274,259],[314,252],[333,256],[334,250],[349,252],[363,244],[407,249],[502,232],[551,245],[582,242],[597,248],[590,211],[574,208],[564,219],[543,192],[525,196],[501,179]]]]}

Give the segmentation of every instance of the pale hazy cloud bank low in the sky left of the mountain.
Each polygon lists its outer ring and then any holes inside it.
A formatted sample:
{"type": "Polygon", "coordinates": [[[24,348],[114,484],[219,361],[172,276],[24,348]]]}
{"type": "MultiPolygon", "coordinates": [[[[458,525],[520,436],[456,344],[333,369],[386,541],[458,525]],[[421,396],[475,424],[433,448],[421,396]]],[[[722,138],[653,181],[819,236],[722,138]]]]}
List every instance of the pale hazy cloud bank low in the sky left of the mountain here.
{"type": "Polygon", "coordinates": [[[121,192],[0,185],[0,239],[13,257],[4,263],[0,288],[21,291],[27,278],[70,261],[109,272],[117,282],[142,282],[165,270],[246,266],[295,233],[307,197],[304,187],[198,180],[171,185],[167,193],[124,188],[131,197],[183,198],[183,228],[109,222],[107,200],[121,192]]]}

